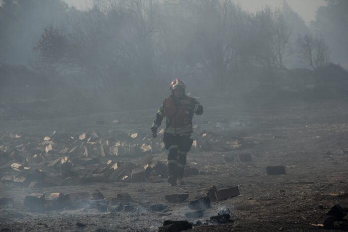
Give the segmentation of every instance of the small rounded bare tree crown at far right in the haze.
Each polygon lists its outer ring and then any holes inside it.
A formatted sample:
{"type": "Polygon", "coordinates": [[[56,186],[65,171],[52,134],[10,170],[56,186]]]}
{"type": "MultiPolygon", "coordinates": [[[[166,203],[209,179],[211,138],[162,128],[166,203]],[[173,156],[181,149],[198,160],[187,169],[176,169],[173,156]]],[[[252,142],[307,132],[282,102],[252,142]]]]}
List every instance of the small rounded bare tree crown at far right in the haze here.
{"type": "Polygon", "coordinates": [[[313,70],[324,67],[329,63],[329,48],[323,36],[313,36],[310,32],[299,35],[297,40],[298,57],[306,62],[313,70]]]}

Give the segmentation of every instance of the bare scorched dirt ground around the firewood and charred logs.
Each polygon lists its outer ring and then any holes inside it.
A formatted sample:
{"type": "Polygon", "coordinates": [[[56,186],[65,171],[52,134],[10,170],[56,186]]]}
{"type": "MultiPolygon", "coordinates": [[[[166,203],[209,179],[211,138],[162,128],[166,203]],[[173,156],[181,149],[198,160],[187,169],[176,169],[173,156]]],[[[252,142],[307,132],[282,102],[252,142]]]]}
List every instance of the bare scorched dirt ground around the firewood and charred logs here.
{"type": "MultiPolygon", "coordinates": [[[[247,147],[230,152],[202,152],[192,149],[187,163],[205,174],[185,179],[186,185],[169,186],[166,181],[140,183],[93,183],[79,186],[23,188],[0,183],[0,198],[14,197],[13,207],[1,207],[1,231],[158,231],[165,220],[208,220],[228,207],[234,223],[194,227],[191,231],[330,231],[310,224],[322,224],[325,214],[335,204],[348,207],[348,103],[292,102],[241,107],[204,105],[202,116],[195,116],[198,128],[242,138],[247,147]],[[251,162],[241,162],[238,155],[250,153],[251,162]],[[234,161],[225,161],[233,156],[234,161]],[[266,166],[284,165],[285,175],[267,175],[266,166]],[[218,189],[239,186],[240,195],[213,202],[204,216],[187,219],[188,202],[198,190],[215,185],[218,189]],[[32,213],[23,206],[32,193],[73,193],[99,189],[105,197],[128,192],[137,203],[135,212],[100,213],[96,209],[79,209],[32,213]],[[189,193],[183,203],[169,203],[171,193],[189,193]],[[140,204],[142,203],[142,204],[140,204]],[[162,212],[152,212],[147,204],[166,204],[162,212]],[[141,206],[142,205],[142,206],[141,206]],[[144,206],[145,205],[145,206],[144,206]],[[76,223],[85,224],[79,228],[76,223]]],[[[45,120],[1,120],[0,133],[27,133],[43,137],[53,131],[82,133],[98,129],[141,131],[150,133],[157,109],[82,115],[45,120]],[[112,120],[119,120],[112,124],[112,120]],[[96,121],[104,120],[104,125],[96,121]]],[[[160,142],[161,137],[154,139],[160,142]]],[[[167,154],[155,154],[166,160],[167,154]]],[[[114,160],[136,161],[141,157],[118,157],[114,160]]],[[[106,160],[103,162],[106,163],[106,160]]],[[[347,224],[335,223],[335,230],[348,231],[347,224]]]]}

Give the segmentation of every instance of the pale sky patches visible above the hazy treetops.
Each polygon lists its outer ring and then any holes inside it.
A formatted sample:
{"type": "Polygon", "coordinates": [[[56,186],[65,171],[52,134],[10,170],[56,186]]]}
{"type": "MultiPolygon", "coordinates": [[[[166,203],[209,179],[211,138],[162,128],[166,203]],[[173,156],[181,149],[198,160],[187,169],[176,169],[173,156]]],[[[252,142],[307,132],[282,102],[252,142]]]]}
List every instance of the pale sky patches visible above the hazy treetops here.
{"type": "MultiPolygon", "coordinates": [[[[92,7],[93,0],[65,0],[69,5],[73,5],[78,9],[88,9],[92,7]]],[[[240,4],[242,9],[249,12],[255,12],[262,6],[269,5],[271,7],[281,7],[283,0],[235,0],[240,4]]],[[[287,0],[292,9],[297,12],[307,24],[315,19],[318,6],[325,5],[325,0],[287,0]]]]}

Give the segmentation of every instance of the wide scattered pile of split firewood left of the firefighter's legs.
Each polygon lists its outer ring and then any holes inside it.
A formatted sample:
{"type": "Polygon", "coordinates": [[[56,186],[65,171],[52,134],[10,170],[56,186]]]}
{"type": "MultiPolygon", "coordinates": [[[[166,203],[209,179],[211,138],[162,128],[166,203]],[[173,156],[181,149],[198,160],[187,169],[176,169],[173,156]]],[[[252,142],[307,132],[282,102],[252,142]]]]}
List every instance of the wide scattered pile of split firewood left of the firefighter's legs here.
{"type": "MultiPolygon", "coordinates": [[[[3,183],[30,188],[89,182],[157,183],[167,177],[167,165],[153,161],[152,154],[163,149],[163,144],[152,143],[138,133],[101,135],[95,130],[79,136],[54,132],[44,138],[3,135],[0,178],[3,183]],[[142,156],[137,164],[114,161],[134,155],[142,156]]],[[[198,170],[193,171],[198,174],[198,170]]],[[[186,171],[186,175],[191,172],[186,171]]]]}

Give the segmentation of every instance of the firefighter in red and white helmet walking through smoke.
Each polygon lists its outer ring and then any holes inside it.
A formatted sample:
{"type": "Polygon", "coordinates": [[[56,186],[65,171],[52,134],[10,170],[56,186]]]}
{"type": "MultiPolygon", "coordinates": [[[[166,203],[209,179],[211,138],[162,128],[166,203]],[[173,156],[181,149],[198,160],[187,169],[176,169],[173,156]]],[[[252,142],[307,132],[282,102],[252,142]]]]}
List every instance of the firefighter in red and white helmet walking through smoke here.
{"type": "Polygon", "coordinates": [[[185,84],[174,79],[170,85],[171,95],[167,97],[160,109],[157,111],[156,119],[152,124],[152,136],[156,138],[157,129],[166,117],[166,129],[163,136],[165,147],[169,150],[168,182],[174,186],[182,181],[183,172],[186,164],[186,154],[190,151],[193,140],[190,138],[192,133],[192,118],[194,114],[201,115],[203,106],[194,98],[185,94],[185,84]]]}

